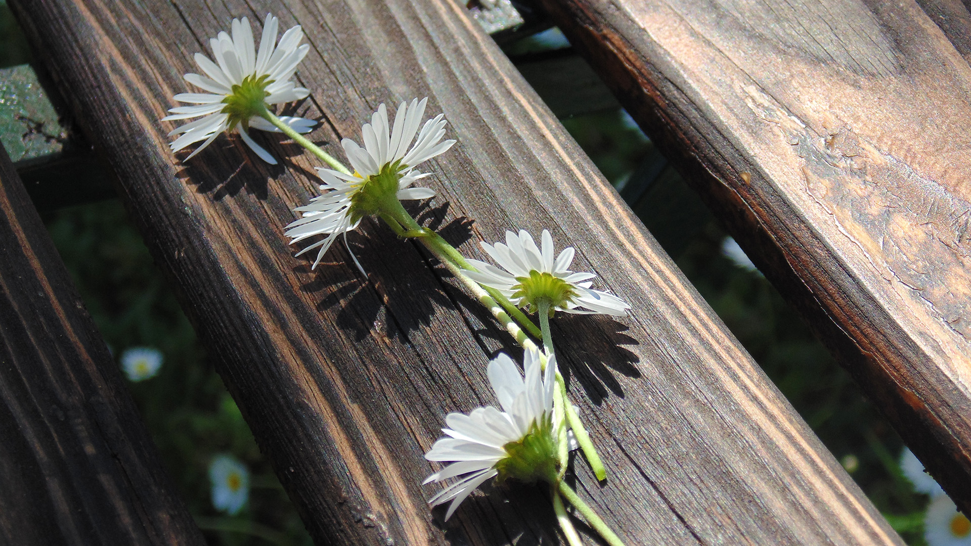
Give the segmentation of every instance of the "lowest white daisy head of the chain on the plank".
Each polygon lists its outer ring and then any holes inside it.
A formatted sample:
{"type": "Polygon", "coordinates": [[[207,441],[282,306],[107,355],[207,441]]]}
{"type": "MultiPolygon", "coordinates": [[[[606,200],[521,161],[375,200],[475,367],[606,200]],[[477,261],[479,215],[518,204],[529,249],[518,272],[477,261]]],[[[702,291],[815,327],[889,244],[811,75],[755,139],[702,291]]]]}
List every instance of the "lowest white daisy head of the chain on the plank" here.
{"type": "MultiPolygon", "coordinates": [[[[488,363],[486,373],[503,411],[492,406],[477,408],[472,413],[450,413],[445,418],[449,435],[435,442],[425,454],[428,461],[456,461],[435,472],[424,481],[441,482],[461,476],[428,502],[438,505],[452,501],[445,519],[452,517],[458,504],[485,480],[498,476],[531,483],[557,479],[556,430],[560,419],[554,418],[553,389],[556,358],[551,357],[542,370],[540,355],[526,351],[525,380],[512,358],[499,355],[488,363]]],[[[576,449],[575,441],[570,448],[576,449]]]]}

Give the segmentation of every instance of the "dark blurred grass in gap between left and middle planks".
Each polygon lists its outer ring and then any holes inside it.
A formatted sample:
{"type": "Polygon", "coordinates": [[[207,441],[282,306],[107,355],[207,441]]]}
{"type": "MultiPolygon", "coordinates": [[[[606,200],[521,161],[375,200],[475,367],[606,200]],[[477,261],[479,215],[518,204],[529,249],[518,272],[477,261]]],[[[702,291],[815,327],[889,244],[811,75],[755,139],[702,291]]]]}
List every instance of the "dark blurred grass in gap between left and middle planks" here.
{"type": "Polygon", "coordinates": [[[157,376],[129,385],[162,461],[210,542],[311,544],[121,204],[62,209],[45,221],[116,358],[132,346],[154,347],[165,356],[157,376]],[[233,454],[251,471],[250,501],[235,517],[219,514],[210,499],[208,468],[219,453],[233,454]]]}

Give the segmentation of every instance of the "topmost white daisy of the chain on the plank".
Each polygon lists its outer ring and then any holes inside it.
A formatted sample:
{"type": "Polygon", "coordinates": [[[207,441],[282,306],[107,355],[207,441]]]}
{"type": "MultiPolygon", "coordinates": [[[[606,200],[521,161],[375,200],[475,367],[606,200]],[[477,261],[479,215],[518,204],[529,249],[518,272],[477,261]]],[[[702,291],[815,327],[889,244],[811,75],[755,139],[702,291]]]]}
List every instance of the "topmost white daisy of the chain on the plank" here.
{"type": "MultiPolygon", "coordinates": [[[[169,110],[172,115],[162,120],[203,118],[185,123],[169,133],[169,136],[181,135],[169,145],[172,152],[205,141],[185,157],[188,159],[202,152],[223,130],[236,129],[243,142],[260,158],[277,164],[273,155],[253,142],[247,131],[254,128],[281,132],[262,117],[267,106],[300,100],[310,94],[290,81],[297,64],[310,50],[306,44],[300,46],[303,30],[299,25],[290,28],[276,44],[278,26],[279,19],[267,14],[259,51],[256,51],[249,19],[233,19],[232,36],[223,31],[209,41],[216,62],[202,53],[195,54],[195,62],[204,75],[186,74],[185,81],[208,92],[176,95],[176,100],[193,106],[173,108],[169,110]]],[[[287,116],[280,119],[298,133],[310,132],[315,124],[312,119],[287,116]]]]}

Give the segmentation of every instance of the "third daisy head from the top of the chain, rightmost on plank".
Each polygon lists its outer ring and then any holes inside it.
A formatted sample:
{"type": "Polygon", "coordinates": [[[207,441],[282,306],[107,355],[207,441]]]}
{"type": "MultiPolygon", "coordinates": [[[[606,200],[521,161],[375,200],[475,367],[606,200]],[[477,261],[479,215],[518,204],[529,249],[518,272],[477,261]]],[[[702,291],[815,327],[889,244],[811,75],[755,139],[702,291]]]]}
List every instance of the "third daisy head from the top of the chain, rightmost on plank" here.
{"type": "Polygon", "coordinates": [[[505,245],[482,243],[485,252],[505,271],[485,261],[470,259],[469,263],[478,271],[466,271],[465,274],[481,285],[499,290],[515,305],[528,309],[530,313],[536,312],[537,301],[549,298],[552,302],[551,313],[559,310],[615,317],[627,314],[630,305],[618,296],[590,289],[592,282],[589,279],[596,275],[569,270],[573,262],[573,247],[563,249],[554,259],[552,236],[546,229],[543,230],[541,244],[542,250],[525,230],[520,230],[519,235],[506,231],[505,245]]]}

